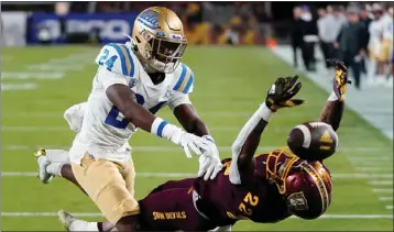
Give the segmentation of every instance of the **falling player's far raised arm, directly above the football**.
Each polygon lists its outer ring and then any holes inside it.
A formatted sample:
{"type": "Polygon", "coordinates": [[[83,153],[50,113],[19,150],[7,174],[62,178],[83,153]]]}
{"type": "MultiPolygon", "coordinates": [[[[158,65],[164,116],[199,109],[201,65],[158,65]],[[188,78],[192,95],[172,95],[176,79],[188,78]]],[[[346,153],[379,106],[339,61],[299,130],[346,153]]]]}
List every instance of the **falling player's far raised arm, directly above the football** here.
{"type": "Polygon", "coordinates": [[[347,85],[350,84],[347,75],[347,67],[338,59],[328,59],[336,65],[336,74],[332,85],[332,92],[320,113],[320,121],[330,124],[335,131],[339,129],[344,109],[344,93],[347,85]]]}

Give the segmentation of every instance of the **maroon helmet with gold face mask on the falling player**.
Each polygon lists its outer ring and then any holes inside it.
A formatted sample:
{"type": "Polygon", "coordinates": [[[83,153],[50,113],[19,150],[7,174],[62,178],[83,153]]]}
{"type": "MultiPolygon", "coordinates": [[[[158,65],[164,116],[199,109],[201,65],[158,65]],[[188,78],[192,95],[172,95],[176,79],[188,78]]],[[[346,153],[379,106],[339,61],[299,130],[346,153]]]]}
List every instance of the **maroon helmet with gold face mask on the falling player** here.
{"type": "Polygon", "coordinates": [[[320,217],[331,202],[331,175],[320,162],[299,159],[288,147],[271,152],[266,177],[287,200],[288,211],[303,219],[320,217]]]}

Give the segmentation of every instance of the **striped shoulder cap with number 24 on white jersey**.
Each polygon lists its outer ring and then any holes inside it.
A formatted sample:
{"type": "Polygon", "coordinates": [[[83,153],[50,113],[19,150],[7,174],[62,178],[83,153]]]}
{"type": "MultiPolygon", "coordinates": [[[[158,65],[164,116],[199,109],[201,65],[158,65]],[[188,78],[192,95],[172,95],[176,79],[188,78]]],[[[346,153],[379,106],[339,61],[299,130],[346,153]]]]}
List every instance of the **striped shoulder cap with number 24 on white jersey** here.
{"type": "Polygon", "coordinates": [[[124,44],[105,45],[96,58],[96,64],[125,77],[134,77],[136,71],[134,54],[124,44]]]}

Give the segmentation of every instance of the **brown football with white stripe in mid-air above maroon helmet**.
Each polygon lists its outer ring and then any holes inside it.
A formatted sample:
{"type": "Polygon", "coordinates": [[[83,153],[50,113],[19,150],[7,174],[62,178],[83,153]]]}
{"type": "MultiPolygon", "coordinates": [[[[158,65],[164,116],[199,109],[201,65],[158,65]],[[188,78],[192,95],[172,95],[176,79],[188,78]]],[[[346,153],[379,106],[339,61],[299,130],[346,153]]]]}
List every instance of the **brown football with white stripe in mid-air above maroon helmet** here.
{"type": "Polygon", "coordinates": [[[338,135],[327,123],[306,122],[291,131],[287,145],[303,159],[322,161],[337,151],[338,135]]]}

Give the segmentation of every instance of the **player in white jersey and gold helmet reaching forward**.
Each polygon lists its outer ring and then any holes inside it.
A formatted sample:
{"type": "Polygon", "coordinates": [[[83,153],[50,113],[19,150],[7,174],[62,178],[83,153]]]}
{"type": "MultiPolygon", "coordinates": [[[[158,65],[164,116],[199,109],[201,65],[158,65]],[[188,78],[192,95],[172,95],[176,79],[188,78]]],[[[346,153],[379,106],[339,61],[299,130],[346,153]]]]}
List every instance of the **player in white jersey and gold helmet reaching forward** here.
{"type": "MultiPolygon", "coordinates": [[[[131,42],[106,45],[96,59],[99,67],[69,158],[76,180],[118,231],[133,231],[131,216],[139,213],[128,145],[138,128],[180,145],[187,156],[190,150],[207,156],[204,166],[212,178],[222,167],[215,142],[188,98],[194,75],[180,63],[185,47],[179,18],[153,7],[136,16],[131,42]],[[154,115],[165,104],[186,132],[154,115]]],[[[45,152],[37,156],[41,177],[48,178],[45,152]]]]}

